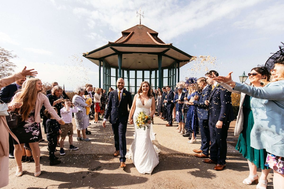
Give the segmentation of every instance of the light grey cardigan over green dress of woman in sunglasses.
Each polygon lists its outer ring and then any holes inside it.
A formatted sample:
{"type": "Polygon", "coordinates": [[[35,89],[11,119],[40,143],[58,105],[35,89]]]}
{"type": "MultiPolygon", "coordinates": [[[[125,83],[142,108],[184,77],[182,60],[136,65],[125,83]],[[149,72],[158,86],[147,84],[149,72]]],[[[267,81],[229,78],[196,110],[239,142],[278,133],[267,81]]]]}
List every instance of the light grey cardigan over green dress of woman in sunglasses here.
{"type": "Polygon", "coordinates": [[[245,101],[246,94],[233,90],[233,88],[231,86],[229,86],[228,84],[225,84],[223,82],[221,82],[220,85],[230,92],[241,94],[240,109],[239,109],[239,112],[238,112],[238,115],[237,115],[237,121],[236,121],[236,125],[235,125],[235,133],[234,133],[235,136],[240,135],[241,132],[243,131],[243,125],[244,125],[243,103],[245,101]]]}

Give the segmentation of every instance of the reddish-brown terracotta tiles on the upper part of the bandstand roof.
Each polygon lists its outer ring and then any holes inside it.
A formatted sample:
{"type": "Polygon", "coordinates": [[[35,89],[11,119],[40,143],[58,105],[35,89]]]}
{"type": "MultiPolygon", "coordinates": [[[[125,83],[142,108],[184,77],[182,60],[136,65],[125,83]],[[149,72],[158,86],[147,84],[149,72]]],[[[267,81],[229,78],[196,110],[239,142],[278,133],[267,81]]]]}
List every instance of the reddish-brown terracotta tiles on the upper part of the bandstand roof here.
{"type": "Polygon", "coordinates": [[[158,38],[158,32],[146,27],[144,25],[136,25],[121,32],[120,37],[115,42],[108,42],[109,44],[153,44],[153,45],[172,45],[165,44],[158,38]]]}

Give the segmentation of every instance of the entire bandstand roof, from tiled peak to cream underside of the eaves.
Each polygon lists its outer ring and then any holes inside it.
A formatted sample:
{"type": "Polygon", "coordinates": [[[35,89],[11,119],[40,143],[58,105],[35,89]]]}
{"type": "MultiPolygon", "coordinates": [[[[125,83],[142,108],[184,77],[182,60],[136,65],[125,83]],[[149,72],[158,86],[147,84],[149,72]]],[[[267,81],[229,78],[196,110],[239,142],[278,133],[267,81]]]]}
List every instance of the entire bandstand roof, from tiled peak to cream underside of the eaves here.
{"type": "Polygon", "coordinates": [[[174,61],[180,62],[181,67],[192,58],[172,43],[164,43],[158,38],[158,32],[140,24],[122,31],[122,37],[116,41],[83,56],[96,65],[99,60],[105,60],[118,67],[118,54],[122,54],[122,67],[129,69],[158,68],[158,54],[162,55],[162,67],[170,66],[174,61]]]}

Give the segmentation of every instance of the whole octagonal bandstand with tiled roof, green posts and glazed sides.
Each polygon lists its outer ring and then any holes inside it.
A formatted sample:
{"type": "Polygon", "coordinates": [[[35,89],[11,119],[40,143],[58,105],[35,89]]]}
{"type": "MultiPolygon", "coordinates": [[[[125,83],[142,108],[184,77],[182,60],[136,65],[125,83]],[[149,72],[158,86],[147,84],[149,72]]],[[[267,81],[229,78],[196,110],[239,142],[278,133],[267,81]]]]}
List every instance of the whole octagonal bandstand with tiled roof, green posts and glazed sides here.
{"type": "Polygon", "coordinates": [[[116,80],[122,77],[131,94],[137,93],[142,81],[148,81],[153,88],[169,85],[173,89],[179,81],[180,67],[192,58],[141,24],[122,31],[122,37],[115,42],[83,56],[99,66],[99,87],[116,89],[116,80]]]}

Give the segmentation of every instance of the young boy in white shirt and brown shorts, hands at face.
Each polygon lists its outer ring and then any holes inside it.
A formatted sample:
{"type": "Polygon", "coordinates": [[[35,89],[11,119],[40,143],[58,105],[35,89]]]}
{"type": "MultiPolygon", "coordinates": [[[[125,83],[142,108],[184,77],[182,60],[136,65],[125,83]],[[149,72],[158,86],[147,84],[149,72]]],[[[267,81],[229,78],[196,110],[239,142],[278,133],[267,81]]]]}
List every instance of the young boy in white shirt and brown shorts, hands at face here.
{"type": "Polygon", "coordinates": [[[69,100],[65,99],[62,101],[62,105],[64,106],[62,109],[60,109],[60,114],[62,120],[65,122],[64,125],[61,125],[61,140],[60,140],[60,155],[65,155],[63,146],[64,146],[64,140],[66,136],[69,137],[69,150],[78,150],[78,147],[73,146],[73,124],[72,124],[72,112],[77,113],[77,107],[74,106],[74,104],[69,100]],[[71,108],[73,106],[73,108],[71,108]]]}

